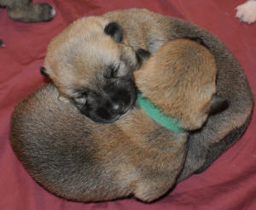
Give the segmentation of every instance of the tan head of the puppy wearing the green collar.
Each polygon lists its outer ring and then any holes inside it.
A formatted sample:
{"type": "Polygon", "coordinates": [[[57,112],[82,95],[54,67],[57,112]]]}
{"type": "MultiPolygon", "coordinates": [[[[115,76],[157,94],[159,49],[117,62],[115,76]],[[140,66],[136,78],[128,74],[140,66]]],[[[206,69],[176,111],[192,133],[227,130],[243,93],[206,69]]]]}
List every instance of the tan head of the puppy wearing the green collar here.
{"type": "Polygon", "coordinates": [[[215,95],[214,57],[189,39],[166,43],[134,75],[143,96],[188,130],[201,128],[211,110],[226,104],[215,95]]]}

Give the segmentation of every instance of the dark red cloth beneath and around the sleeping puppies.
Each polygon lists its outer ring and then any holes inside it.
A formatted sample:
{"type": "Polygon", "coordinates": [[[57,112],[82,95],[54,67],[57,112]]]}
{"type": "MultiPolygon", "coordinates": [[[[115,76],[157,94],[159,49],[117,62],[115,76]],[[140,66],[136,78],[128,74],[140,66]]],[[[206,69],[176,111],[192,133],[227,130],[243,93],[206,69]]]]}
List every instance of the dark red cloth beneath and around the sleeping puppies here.
{"type": "MultiPolygon", "coordinates": [[[[241,24],[234,16],[245,0],[41,0],[55,6],[54,20],[19,23],[0,9],[0,209],[256,209],[255,115],[241,140],[205,173],[178,184],[164,199],[144,204],[135,199],[102,203],[76,203],[52,196],[26,173],[9,145],[10,115],[15,104],[44,84],[39,73],[52,37],[73,20],[113,9],[147,8],[192,21],[216,34],[235,54],[256,93],[256,24],[241,24]]],[[[39,1],[34,1],[39,2],[39,1]]]]}

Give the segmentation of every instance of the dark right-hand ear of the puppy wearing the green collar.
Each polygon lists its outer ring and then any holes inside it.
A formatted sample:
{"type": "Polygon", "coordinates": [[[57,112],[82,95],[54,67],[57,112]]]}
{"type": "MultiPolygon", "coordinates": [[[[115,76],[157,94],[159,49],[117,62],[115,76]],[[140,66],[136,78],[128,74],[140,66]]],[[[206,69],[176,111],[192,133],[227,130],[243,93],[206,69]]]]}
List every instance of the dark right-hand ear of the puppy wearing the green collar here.
{"type": "Polygon", "coordinates": [[[230,103],[227,99],[224,99],[224,97],[219,95],[214,95],[212,97],[211,102],[211,108],[210,108],[210,114],[217,114],[221,111],[226,110],[229,107],[230,103]]]}

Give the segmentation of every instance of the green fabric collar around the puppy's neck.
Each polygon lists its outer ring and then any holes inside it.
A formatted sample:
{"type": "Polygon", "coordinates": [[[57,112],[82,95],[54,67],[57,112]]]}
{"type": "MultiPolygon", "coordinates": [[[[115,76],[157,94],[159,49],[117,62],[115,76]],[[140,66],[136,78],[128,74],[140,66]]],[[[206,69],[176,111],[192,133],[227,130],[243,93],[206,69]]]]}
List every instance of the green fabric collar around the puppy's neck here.
{"type": "Polygon", "coordinates": [[[142,94],[137,95],[137,102],[141,108],[146,111],[148,116],[154,119],[155,122],[158,122],[161,126],[178,133],[184,132],[184,129],[178,126],[177,120],[170,116],[164,115],[158,107],[153,105],[149,99],[144,98],[142,94]]]}

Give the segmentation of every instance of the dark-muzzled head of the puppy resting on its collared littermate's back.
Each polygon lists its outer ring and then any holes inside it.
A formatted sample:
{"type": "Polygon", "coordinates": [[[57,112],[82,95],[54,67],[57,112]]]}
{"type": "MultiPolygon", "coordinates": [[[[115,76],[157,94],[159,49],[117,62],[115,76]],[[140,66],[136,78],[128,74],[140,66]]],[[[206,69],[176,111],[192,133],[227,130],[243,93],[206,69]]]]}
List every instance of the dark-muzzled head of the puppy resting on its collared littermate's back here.
{"type": "Polygon", "coordinates": [[[102,17],[76,20],[49,43],[44,73],[96,122],[113,122],[137,99],[132,71],[139,56],[122,43],[122,28],[102,17]]]}

